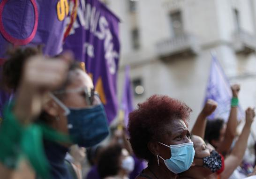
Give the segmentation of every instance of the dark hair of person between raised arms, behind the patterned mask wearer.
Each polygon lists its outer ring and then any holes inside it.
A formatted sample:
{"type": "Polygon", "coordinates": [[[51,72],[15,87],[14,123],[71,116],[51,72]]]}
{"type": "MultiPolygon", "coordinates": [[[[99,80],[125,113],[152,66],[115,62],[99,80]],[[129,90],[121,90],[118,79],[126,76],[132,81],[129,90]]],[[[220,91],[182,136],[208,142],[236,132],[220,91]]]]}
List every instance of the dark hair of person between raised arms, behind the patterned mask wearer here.
{"type": "MultiPolygon", "coordinates": [[[[209,142],[211,145],[212,140],[218,140],[220,136],[220,130],[224,126],[224,119],[207,120],[204,140],[209,142]]],[[[216,147],[216,146],[213,146],[216,147]]]]}

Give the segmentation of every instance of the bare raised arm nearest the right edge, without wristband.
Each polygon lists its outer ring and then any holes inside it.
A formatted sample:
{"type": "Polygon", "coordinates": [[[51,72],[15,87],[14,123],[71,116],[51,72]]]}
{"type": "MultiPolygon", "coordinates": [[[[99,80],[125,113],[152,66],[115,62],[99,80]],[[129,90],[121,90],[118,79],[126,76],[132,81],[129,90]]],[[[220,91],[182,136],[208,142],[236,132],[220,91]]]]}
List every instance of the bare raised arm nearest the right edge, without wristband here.
{"type": "Polygon", "coordinates": [[[248,108],[246,110],[246,122],[243,127],[242,133],[239,136],[238,141],[235,143],[231,154],[225,159],[225,169],[221,173],[221,179],[228,179],[233,171],[236,169],[236,167],[241,164],[247,147],[248,137],[254,117],[254,109],[248,108]]]}

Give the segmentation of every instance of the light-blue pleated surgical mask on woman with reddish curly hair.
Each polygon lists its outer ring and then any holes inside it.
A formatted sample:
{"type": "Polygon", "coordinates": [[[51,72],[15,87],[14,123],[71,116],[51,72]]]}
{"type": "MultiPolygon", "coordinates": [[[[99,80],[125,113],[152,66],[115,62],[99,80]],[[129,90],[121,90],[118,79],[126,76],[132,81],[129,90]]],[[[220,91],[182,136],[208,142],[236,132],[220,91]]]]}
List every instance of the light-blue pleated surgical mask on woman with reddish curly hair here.
{"type": "Polygon", "coordinates": [[[193,163],[195,150],[193,147],[193,142],[182,143],[179,145],[166,145],[161,142],[158,142],[166,147],[171,148],[172,157],[169,159],[164,159],[166,167],[173,173],[181,173],[189,169],[193,163]]]}

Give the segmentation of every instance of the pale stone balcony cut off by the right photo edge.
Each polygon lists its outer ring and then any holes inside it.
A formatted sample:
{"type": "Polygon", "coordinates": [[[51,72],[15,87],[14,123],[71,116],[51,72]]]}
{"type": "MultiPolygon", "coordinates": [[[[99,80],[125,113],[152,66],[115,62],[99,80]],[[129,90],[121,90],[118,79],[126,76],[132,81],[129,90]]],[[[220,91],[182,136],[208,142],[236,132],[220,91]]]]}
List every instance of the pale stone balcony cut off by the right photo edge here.
{"type": "Polygon", "coordinates": [[[233,48],[237,53],[251,53],[256,51],[256,37],[239,30],[233,34],[233,48]]]}

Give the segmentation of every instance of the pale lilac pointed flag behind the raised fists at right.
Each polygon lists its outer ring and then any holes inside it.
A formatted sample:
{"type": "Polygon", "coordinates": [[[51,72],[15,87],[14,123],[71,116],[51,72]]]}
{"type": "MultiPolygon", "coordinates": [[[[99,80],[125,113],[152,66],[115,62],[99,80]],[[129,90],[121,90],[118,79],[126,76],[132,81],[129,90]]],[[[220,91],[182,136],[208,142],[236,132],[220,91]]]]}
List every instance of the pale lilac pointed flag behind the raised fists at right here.
{"type": "MultiPolygon", "coordinates": [[[[227,121],[231,110],[231,98],[232,90],[228,79],[216,57],[212,56],[210,77],[204,103],[206,103],[208,99],[213,99],[218,103],[218,107],[208,119],[222,118],[227,121]]],[[[241,106],[239,106],[238,120],[243,118],[244,111],[241,109],[241,106]]]]}

